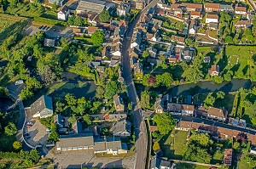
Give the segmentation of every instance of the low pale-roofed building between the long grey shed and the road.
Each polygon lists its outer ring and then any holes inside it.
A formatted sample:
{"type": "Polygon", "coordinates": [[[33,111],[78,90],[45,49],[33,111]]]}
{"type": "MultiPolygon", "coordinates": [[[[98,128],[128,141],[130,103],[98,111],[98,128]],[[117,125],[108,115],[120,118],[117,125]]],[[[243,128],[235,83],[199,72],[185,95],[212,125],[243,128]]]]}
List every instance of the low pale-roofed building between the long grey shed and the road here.
{"type": "Polygon", "coordinates": [[[107,141],[101,140],[94,143],[94,153],[107,153],[112,155],[119,155],[127,153],[127,144],[121,141],[107,141]]]}

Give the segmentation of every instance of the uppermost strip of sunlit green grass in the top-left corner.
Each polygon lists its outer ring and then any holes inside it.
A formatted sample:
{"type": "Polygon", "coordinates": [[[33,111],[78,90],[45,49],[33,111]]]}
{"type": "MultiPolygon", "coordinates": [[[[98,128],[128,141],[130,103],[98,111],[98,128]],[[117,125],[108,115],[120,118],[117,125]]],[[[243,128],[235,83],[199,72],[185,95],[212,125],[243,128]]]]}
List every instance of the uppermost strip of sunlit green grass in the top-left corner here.
{"type": "Polygon", "coordinates": [[[17,14],[19,16],[25,16],[25,17],[29,17],[29,18],[40,15],[38,8],[32,8],[29,5],[29,3],[17,3],[16,8],[7,8],[5,13],[17,14]]]}

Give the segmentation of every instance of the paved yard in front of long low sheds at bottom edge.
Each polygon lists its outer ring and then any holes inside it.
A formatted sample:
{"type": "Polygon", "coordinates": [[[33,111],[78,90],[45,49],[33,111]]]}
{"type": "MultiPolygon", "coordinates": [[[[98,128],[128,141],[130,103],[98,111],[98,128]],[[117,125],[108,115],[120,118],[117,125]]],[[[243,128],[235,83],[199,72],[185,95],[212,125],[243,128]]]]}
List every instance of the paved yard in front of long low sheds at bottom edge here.
{"type": "Polygon", "coordinates": [[[82,168],[82,167],[98,167],[98,168],[134,168],[135,157],[125,159],[121,158],[98,158],[93,154],[93,150],[62,152],[55,155],[55,164],[60,168],[82,168]]]}

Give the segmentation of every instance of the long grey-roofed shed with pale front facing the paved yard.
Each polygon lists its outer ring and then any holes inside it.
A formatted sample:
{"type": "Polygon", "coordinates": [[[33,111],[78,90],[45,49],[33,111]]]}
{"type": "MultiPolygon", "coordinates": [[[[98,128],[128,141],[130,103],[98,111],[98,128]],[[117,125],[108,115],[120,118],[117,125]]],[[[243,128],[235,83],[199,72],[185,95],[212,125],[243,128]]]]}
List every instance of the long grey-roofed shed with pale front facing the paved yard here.
{"type": "Polygon", "coordinates": [[[58,151],[93,149],[93,136],[86,134],[61,135],[56,143],[58,151]]]}

